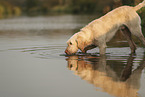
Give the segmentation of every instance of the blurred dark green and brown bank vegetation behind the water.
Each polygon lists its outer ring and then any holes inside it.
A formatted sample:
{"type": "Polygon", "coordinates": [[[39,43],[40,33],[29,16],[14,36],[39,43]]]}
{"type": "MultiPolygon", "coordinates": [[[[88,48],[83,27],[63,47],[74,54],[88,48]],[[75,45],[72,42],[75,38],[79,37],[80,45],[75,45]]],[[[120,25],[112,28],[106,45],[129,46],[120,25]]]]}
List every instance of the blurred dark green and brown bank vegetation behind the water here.
{"type": "MultiPolygon", "coordinates": [[[[0,0],[0,19],[62,14],[101,16],[116,7],[122,5],[135,6],[140,2],[142,0],[0,0]]],[[[145,29],[145,18],[143,18],[145,17],[145,8],[142,8],[138,13],[145,29]]]]}

